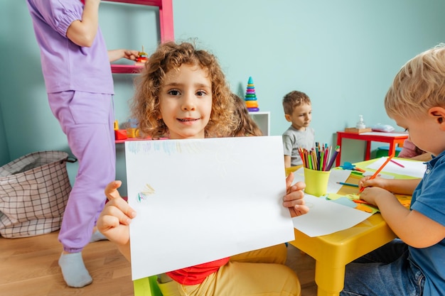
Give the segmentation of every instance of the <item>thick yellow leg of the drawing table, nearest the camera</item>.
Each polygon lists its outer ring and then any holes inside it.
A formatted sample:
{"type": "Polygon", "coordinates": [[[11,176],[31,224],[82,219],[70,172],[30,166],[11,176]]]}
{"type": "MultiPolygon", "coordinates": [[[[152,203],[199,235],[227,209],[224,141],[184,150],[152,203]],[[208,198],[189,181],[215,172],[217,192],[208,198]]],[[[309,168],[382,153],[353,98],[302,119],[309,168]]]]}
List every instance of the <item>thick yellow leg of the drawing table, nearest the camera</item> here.
{"type": "Polygon", "coordinates": [[[317,296],[338,296],[345,284],[345,266],[334,268],[331,264],[315,263],[317,296]]]}

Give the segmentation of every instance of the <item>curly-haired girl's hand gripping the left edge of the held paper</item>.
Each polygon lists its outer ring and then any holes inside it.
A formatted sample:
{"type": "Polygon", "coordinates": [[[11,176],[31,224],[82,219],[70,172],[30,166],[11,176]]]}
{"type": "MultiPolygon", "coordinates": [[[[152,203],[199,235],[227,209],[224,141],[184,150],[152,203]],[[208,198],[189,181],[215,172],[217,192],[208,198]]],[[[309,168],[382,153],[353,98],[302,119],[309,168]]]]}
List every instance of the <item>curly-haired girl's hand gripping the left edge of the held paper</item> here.
{"type": "Polygon", "coordinates": [[[121,181],[113,181],[105,188],[105,194],[109,200],[105,204],[99,219],[97,229],[114,243],[126,245],[129,243],[129,224],[136,216],[136,212],[122,199],[117,188],[121,181]]]}

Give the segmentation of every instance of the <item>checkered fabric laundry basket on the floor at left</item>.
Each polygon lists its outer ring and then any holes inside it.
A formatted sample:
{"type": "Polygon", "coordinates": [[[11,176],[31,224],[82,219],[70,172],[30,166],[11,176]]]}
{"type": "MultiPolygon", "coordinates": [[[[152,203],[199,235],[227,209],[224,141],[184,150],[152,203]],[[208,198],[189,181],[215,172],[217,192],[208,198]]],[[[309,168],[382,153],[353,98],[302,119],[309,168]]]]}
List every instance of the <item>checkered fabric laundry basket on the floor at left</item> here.
{"type": "Polygon", "coordinates": [[[63,151],[30,153],[0,167],[0,235],[19,238],[60,229],[71,191],[63,151]]]}

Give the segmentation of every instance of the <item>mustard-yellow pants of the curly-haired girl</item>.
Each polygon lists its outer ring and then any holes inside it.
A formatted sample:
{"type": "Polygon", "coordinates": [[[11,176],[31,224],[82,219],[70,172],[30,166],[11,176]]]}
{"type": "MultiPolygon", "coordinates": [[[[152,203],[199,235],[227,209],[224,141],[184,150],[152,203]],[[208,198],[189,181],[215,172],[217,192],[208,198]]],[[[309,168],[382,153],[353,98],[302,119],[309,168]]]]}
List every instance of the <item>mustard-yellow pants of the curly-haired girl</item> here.
{"type": "Polygon", "coordinates": [[[241,253],[232,256],[229,263],[199,285],[180,285],[172,281],[166,283],[168,287],[160,284],[161,291],[169,296],[299,296],[299,279],[284,265],[286,256],[284,243],[241,253]],[[176,289],[177,292],[173,291],[176,289]]]}

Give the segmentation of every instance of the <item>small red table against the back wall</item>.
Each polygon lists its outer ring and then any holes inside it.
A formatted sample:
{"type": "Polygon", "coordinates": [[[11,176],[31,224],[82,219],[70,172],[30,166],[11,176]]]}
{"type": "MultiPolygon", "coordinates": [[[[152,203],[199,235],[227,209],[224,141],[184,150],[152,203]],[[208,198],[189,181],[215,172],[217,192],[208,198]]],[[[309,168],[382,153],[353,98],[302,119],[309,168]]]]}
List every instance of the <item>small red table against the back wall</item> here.
{"type": "MultiPolygon", "coordinates": [[[[341,142],[343,138],[350,138],[353,140],[366,141],[365,150],[365,160],[369,160],[371,157],[371,142],[383,142],[390,143],[389,155],[395,153],[395,148],[398,146],[402,147],[403,142],[408,138],[408,133],[383,133],[379,131],[371,131],[369,133],[347,133],[345,131],[337,132],[337,145],[341,147],[341,142]]],[[[336,166],[340,165],[341,161],[341,150],[336,158],[336,166]]]]}

